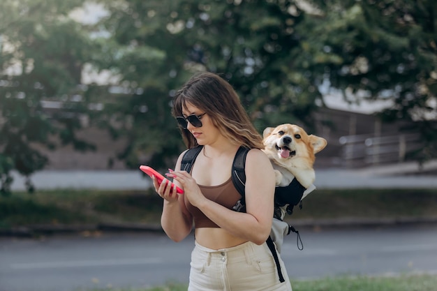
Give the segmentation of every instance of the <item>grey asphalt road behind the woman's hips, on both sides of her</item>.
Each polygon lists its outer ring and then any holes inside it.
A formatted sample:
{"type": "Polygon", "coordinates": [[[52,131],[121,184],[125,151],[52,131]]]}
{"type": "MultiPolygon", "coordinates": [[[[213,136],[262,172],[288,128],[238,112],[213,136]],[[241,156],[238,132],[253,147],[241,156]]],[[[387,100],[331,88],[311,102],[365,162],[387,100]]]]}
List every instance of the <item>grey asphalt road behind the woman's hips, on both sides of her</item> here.
{"type": "MultiPolygon", "coordinates": [[[[437,274],[437,226],[301,230],[286,238],[288,275],[437,274]]],[[[186,283],[193,237],[180,243],[163,234],[101,234],[0,239],[0,291],[77,291],[186,283]]]]}

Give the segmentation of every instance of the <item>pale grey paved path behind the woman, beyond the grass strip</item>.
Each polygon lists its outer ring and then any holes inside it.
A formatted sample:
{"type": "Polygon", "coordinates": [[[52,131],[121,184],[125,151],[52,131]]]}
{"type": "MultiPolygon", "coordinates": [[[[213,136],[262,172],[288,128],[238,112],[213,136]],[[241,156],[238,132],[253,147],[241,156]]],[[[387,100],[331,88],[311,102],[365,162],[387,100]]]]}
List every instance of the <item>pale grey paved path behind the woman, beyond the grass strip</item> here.
{"type": "MultiPolygon", "coordinates": [[[[424,166],[436,170],[437,161],[424,166]]],[[[108,190],[141,190],[150,186],[149,177],[140,170],[47,170],[31,177],[38,189],[97,188],[108,190]]],[[[351,169],[317,169],[316,187],[332,188],[436,188],[437,175],[419,174],[415,163],[351,169]]],[[[14,174],[13,190],[24,190],[24,179],[14,174]]]]}

